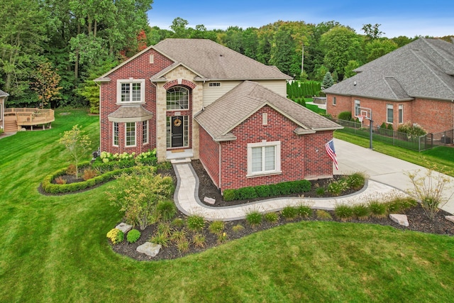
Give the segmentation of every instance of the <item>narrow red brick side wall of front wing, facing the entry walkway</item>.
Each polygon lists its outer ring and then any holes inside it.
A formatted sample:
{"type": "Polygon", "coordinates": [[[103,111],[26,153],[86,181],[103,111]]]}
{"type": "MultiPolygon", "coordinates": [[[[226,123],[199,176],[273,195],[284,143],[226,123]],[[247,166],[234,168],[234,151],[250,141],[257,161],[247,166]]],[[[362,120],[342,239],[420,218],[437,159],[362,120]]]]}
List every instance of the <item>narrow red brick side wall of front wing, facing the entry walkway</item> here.
{"type": "Polygon", "coordinates": [[[211,180],[219,188],[219,144],[205,131],[199,128],[200,162],[204,165],[211,180]]]}

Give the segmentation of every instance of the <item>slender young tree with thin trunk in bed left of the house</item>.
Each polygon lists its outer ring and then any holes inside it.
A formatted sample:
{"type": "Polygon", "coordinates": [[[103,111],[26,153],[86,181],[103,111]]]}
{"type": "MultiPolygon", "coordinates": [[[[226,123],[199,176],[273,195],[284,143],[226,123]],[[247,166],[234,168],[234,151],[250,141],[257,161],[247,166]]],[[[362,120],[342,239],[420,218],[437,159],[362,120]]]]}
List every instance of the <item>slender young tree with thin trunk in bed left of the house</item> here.
{"type": "Polygon", "coordinates": [[[84,134],[84,131],[80,130],[79,125],[72,126],[71,131],[65,131],[60,138],[60,143],[65,145],[65,148],[69,150],[71,157],[74,159],[76,165],[76,178],[79,177],[78,163],[84,158],[84,154],[89,150],[92,141],[89,136],[84,134]]]}

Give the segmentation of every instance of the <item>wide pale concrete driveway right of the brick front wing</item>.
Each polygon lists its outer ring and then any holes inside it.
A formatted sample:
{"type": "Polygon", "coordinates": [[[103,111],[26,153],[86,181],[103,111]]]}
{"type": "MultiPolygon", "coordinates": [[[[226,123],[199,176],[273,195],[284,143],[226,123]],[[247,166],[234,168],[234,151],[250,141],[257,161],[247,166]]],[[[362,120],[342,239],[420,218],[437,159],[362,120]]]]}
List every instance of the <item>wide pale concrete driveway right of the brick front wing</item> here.
{"type": "MultiPolygon", "coordinates": [[[[335,175],[365,172],[370,180],[381,182],[406,192],[413,188],[406,173],[419,171],[419,175],[423,176],[427,171],[426,168],[419,165],[338,139],[334,139],[334,148],[336,149],[339,166],[339,170],[333,168],[335,175]]],[[[443,192],[443,197],[449,199],[441,209],[454,214],[454,178],[447,175],[443,176],[448,177],[450,180],[449,184],[445,184],[443,192]]]]}

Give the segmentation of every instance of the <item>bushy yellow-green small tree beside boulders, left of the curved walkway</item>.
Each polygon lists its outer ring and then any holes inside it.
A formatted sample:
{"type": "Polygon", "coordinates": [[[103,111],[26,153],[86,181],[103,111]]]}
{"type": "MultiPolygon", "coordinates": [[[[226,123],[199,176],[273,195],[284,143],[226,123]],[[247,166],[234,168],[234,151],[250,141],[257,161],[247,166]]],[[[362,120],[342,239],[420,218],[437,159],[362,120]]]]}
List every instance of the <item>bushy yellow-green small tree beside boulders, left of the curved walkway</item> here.
{"type": "Polygon", "coordinates": [[[131,173],[117,178],[107,195],[111,204],[120,206],[128,224],[144,230],[155,219],[157,202],[171,199],[174,190],[172,177],[155,175],[151,167],[137,166],[131,173]]]}

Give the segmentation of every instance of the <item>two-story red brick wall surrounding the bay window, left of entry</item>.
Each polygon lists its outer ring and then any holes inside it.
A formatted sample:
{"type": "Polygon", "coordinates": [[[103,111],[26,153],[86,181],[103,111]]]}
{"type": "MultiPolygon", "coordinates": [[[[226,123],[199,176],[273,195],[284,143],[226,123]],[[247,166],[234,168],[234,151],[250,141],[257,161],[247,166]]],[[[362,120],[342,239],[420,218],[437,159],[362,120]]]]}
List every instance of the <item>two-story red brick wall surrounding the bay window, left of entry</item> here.
{"type": "Polygon", "coordinates": [[[109,151],[110,153],[140,153],[148,149],[156,147],[156,116],[150,119],[150,138],[148,145],[142,146],[142,123],[136,123],[136,140],[137,145],[133,148],[125,147],[125,131],[124,123],[119,123],[119,144],[118,147],[112,146],[113,142],[113,129],[112,122],[109,121],[107,116],[116,111],[119,106],[116,105],[116,80],[117,79],[145,79],[145,104],[143,107],[156,113],[156,88],[150,82],[150,77],[160,72],[165,67],[172,64],[172,61],[167,57],[157,53],[155,50],[150,49],[141,54],[122,67],[118,68],[111,74],[107,75],[111,79],[110,82],[101,84],[101,97],[100,97],[100,128],[101,128],[101,151],[109,151]],[[150,55],[154,55],[154,63],[150,64],[150,55]]]}

